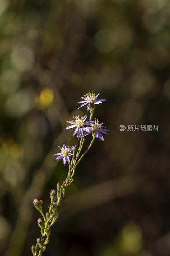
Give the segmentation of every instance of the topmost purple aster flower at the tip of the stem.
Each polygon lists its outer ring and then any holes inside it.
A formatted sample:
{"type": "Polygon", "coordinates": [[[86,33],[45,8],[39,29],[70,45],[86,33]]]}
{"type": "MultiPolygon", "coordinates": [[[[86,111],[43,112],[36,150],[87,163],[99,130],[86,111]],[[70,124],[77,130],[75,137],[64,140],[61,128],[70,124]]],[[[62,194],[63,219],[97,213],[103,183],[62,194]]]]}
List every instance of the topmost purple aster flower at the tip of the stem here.
{"type": "Polygon", "coordinates": [[[97,94],[94,93],[93,94],[93,91],[88,92],[86,95],[84,95],[84,97],[81,97],[81,99],[83,99],[83,101],[77,102],[77,103],[83,103],[79,108],[81,108],[84,105],[88,104],[87,105],[87,111],[89,111],[90,105],[102,103],[102,101],[104,101],[103,99],[102,100],[96,100],[98,96],[99,96],[99,93],[97,93],[97,94]]]}

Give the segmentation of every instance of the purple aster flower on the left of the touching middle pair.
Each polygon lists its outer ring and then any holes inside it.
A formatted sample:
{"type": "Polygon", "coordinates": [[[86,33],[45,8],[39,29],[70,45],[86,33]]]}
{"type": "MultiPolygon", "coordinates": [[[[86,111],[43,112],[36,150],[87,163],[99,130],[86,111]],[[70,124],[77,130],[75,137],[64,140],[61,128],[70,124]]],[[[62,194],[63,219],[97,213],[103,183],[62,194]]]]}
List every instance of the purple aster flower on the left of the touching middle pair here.
{"type": "Polygon", "coordinates": [[[83,136],[83,130],[85,132],[89,132],[88,127],[85,127],[84,124],[89,125],[89,124],[94,124],[95,123],[94,121],[85,121],[86,118],[87,118],[87,115],[82,116],[81,118],[80,118],[80,116],[76,116],[75,118],[73,116],[72,121],[66,121],[67,123],[73,124],[73,125],[67,126],[65,129],[71,129],[71,128],[76,127],[76,129],[73,133],[73,136],[77,133],[77,138],[79,140],[80,135],[81,135],[81,137],[83,136]]]}

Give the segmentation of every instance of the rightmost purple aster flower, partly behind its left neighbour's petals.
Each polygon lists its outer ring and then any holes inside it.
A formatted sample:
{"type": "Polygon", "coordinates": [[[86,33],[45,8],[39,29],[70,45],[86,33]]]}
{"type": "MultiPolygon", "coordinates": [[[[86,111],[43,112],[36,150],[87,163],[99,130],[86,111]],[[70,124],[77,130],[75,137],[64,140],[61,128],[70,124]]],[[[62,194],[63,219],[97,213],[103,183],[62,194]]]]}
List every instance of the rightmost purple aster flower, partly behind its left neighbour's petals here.
{"type": "Polygon", "coordinates": [[[103,139],[103,136],[101,134],[105,133],[108,134],[106,131],[110,132],[109,130],[106,129],[106,127],[102,126],[103,123],[99,123],[98,119],[96,122],[96,118],[95,118],[95,124],[91,124],[90,127],[87,127],[89,129],[89,132],[85,132],[83,136],[86,136],[88,134],[90,134],[91,132],[94,132],[96,139],[99,137],[101,140],[103,139]]]}

